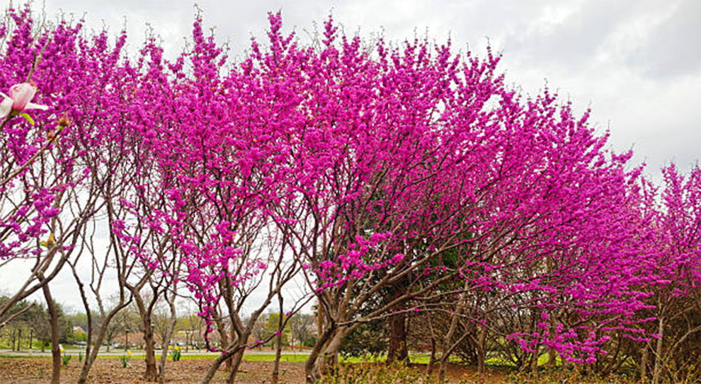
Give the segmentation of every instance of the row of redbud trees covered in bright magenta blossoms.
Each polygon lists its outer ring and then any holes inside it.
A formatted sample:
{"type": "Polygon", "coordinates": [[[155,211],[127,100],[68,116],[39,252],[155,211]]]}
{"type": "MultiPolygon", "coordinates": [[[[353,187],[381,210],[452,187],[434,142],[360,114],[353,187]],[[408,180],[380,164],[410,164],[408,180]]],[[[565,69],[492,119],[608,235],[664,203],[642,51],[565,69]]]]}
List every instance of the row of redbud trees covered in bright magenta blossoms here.
{"type": "Polygon", "coordinates": [[[251,342],[256,321],[293,281],[286,319],[317,304],[310,382],[360,325],[436,313],[441,375],[470,337],[481,368],[488,339],[533,371],[549,353],[610,372],[628,358],[619,351],[644,345],[630,356],[655,381],[680,377],[664,351],[697,356],[701,325],[669,327],[699,313],[698,169],[666,168],[657,192],[588,111],[507,86],[499,54],[362,40],[332,18],[309,45],[283,32],[280,13],[240,59],[199,15],[181,54],[154,37],[125,53],[125,33],[37,30],[28,9],[0,28],[11,36],[0,259],[35,263],[14,301],[69,264],[89,309],[77,263],[96,254],[86,225],[104,224],[100,270],[118,277],[120,301],[101,312],[135,298],[148,328],[144,287],[173,321],[186,292],[221,353],[203,382],[224,361],[233,382],[244,351],[266,342],[251,342]]]}

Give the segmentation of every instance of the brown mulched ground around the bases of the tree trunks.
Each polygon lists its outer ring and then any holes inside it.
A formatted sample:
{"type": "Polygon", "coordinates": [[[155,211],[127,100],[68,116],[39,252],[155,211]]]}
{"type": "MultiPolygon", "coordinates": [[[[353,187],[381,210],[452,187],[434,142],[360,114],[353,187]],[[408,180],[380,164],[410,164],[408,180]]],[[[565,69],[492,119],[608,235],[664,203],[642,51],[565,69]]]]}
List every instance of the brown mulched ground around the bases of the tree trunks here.
{"type": "MultiPolygon", "coordinates": [[[[211,360],[188,359],[173,362],[169,359],[166,365],[167,383],[198,383],[211,360]]],[[[280,384],[303,384],[303,363],[281,363],[280,384]]],[[[80,373],[81,365],[76,359],[62,369],[61,383],[75,383],[80,373]]],[[[141,359],[131,359],[127,368],[122,368],[118,359],[97,359],[89,383],[99,384],[139,384],[146,383],[141,379],[144,365],[141,359]]],[[[236,376],[239,384],[271,383],[270,372],[273,363],[270,361],[243,361],[241,371],[236,376]]],[[[416,366],[416,369],[422,369],[416,366]]],[[[49,358],[0,358],[0,383],[49,383],[51,376],[51,359],[49,358]]],[[[503,383],[503,373],[493,372],[483,378],[477,378],[474,371],[462,366],[451,366],[448,377],[453,383],[503,383]]],[[[224,383],[227,373],[220,369],[212,383],[224,383]]]]}

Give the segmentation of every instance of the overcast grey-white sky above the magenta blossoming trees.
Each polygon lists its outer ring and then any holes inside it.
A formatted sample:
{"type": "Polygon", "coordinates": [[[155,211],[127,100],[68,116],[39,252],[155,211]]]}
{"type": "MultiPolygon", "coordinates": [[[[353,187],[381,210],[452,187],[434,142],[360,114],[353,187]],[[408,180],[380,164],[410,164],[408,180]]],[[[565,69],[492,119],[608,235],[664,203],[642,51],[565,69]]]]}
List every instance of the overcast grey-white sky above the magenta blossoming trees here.
{"type": "MultiPolygon", "coordinates": [[[[6,0],[0,0],[0,4],[6,0]]],[[[15,2],[15,4],[17,4],[15,2]]],[[[283,28],[306,40],[329,13],[345,33],[386,40],[415,33],[484,53],[487,41],[503,53],[507,81],[535,94],[546,81],[577,111],[593,109],[591,122],[617,151],[634,149],[659,179],[674,161],[689,170],[701,158],[701,0],[610,1],[198,1],[207,27],[234,54],[262,37],[267,12],[281,10],[283,28]]],[[[54,18],[60,11],[104,24],[114,33],[126,21],[130,49],[147,24],[161,36],[166,55],[180,52],[193,22],[193,2],[182,0],[46,0],[35,2],[54,18]]],[[[6,271],[0,272],[0,277],[6,271]]],[[[55,296],[77,303],[69,276],[55,296]]],[[[3,284],[11,291],[13,284],[3,284]]]]}

